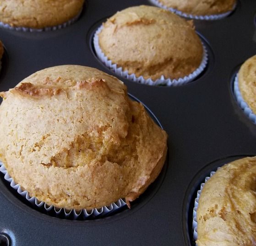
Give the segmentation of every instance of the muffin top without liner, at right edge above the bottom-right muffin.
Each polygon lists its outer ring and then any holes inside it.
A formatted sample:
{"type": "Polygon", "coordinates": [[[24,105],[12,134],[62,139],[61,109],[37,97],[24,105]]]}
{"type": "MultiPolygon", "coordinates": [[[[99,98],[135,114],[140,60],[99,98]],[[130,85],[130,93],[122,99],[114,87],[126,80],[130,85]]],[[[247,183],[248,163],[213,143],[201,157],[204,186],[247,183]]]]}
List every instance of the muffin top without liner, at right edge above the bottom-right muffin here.
{"type": "Polygon", "coordinates": [[[238,85],[243,99],[256,114],[256,55],[241,66],[238,85]]]}

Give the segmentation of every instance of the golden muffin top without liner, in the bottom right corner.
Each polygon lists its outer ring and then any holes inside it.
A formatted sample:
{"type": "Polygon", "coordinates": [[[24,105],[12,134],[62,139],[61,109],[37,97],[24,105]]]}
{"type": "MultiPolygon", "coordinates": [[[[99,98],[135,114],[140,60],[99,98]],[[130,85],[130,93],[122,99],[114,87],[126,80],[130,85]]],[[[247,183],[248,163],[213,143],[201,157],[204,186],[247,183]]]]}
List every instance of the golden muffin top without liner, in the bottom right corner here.
{"type": "Polygon", "coordinates": [[[196,211],[198,246],[256,243],[256,157],[221,167],[205,183],[196,211]]]}

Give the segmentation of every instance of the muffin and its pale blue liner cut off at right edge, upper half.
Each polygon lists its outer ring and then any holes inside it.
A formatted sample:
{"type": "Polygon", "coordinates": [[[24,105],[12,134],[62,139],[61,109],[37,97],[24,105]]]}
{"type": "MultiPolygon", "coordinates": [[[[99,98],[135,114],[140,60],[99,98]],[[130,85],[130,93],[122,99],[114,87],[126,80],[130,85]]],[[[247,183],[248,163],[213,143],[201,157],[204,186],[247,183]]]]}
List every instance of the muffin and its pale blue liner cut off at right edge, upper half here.
{"type": "Polygon", "coordinates": [[[245,114],[256,124],[256,55],[242,64],[234,79],[234,96],[245,114]]]}

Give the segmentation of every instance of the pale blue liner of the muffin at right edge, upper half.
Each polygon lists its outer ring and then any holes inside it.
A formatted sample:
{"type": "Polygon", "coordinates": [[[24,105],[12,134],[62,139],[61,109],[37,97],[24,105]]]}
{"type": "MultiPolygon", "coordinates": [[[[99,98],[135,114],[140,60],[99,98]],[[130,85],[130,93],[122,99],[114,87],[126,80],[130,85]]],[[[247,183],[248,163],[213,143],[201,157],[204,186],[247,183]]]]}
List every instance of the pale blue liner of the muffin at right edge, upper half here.
{"type": "Polygon", "coordinates": [[[245,112],[245,115],[249,117],[254,124],[256,124],[256,115],[252,112],[251,108],[245,102],[239,90],[238,74],[235,76],[234,79],[234,96],[240,108],[245,112]]]}

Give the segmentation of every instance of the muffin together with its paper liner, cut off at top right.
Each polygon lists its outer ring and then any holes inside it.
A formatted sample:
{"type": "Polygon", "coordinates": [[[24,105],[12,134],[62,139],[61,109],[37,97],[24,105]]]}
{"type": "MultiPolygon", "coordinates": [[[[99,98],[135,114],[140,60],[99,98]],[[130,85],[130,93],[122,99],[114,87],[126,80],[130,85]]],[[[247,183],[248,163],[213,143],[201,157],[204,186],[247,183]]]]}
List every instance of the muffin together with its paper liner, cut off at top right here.
{"type": "Polygon", "coordinates": [[[150,0],[179,16],[197,20],[222,19],[234,11],[236,0],[150,0]]]}

